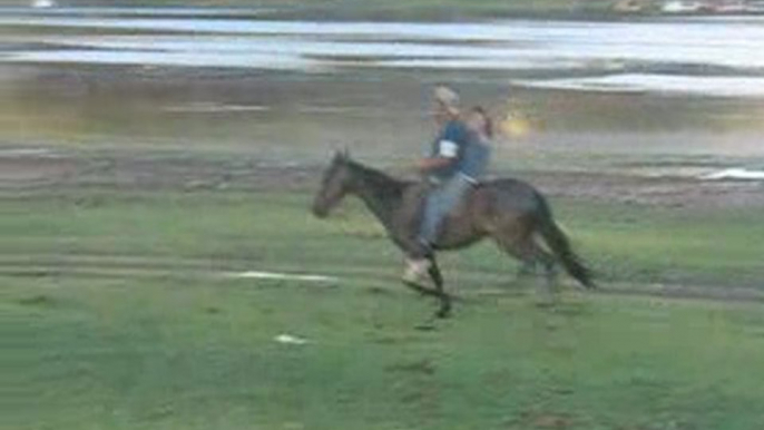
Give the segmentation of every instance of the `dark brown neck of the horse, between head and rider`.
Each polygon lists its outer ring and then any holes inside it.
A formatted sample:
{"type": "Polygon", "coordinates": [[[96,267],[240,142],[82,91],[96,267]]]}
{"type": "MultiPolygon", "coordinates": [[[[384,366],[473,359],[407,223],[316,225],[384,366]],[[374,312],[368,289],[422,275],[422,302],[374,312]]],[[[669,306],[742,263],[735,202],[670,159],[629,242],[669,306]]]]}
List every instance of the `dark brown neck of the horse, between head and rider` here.
{"type": "Polygon", "coordinates": [[[407,184],[363,166],[357,166],[356,172],[355,195],[382,225],[392,228],[393,216],[402,204],[407,184]]]}

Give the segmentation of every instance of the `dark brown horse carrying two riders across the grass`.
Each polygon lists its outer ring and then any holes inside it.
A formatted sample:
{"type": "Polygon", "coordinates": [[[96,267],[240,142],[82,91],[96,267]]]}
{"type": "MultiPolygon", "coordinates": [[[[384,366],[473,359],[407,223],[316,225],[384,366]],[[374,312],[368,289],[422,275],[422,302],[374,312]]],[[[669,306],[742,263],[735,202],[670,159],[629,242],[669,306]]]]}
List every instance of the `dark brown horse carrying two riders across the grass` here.
{"type": "MultiPolygon", "coordinates": [[[[390,238],[411,255],[419,250],[415,236],[424,190],[421,183],[392,178],[337,153],[324,173],[313,214],[323,218],[345,195],[355,195],[382,223],[390,238]]],[[[543,196],[523,182],[505,178],[476,186],[443,222],[434,250],[456,250],[484,237],[493,238],[502,251],[522,262],[523,267],[540,264],[546,271],[547,287],[554,282],[556,263],[584,286],[595,287],[589,270],[570,248],[543,196]],[[539,240],[551,252],[540,246],[539,240]]],[[[435,315],[445,317],[451,311],[451,297],[443,290],[434,255],[429,260],[429,275],[435,290],[409,286],[437,296],[440,309],[435,315]]]]}

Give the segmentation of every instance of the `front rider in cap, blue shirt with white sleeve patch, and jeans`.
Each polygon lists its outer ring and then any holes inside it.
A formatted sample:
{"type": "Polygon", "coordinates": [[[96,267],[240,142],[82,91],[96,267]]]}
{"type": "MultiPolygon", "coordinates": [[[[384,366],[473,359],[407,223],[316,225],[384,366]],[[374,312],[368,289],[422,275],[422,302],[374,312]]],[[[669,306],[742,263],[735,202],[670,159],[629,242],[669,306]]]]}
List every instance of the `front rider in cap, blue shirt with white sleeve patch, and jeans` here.
{"type": "Polygon", "coordinates": [[[438,236],[438,227],[451,208],[469,187],[470,180],[461,174],[468,146],[473,134],[459,116],[459,95],[452,89],[439,86],[433,92],[433,117],[440,131],[432,144],[429,156],[418,163],[419,170],[431,184],[424,199],[424,211],[419,231],[418,250],[403,274],[403,281],[421,283],[430,266],[429,256],[438,236]]]}

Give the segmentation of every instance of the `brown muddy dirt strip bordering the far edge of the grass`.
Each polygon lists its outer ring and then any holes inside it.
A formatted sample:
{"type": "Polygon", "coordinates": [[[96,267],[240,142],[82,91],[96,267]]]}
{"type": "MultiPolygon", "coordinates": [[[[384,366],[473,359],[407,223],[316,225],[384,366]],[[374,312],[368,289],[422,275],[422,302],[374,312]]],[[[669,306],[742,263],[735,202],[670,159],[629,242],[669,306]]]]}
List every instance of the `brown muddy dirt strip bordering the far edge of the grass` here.
{"type": "MultiPolygon", "coordinates": [[[[0,193],[12,196],[79,188],[311,192],[322,168],[320,164],[242,155],[4,149],[0,150],[0,193]]],[[[511,172],[511,175],[551,196],[672,207],[764,207],[764,182],[645,177],[608,172],[527,170],[511,172]]]]}

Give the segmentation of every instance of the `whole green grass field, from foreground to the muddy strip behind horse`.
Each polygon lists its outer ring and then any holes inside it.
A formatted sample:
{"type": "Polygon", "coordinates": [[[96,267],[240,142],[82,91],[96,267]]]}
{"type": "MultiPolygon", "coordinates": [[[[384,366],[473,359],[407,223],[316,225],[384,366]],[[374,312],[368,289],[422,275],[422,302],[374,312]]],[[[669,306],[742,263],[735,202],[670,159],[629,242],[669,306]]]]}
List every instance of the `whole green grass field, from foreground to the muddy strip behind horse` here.
{"type": "MultiPolygon", "coordinates": [[[[303,193],[62,190],[0,211],[8,429],[761,429],[764,306],[584,294],[551,309],[490,246],[461,297],[401,287],[360,205],[303,193]],[[235,280],[229,271],[337,276],[235,280]],[[274,341],[280,334],[306,344],[274,341]]],[[[755,208],[554,201],[609,282],[748,285],[755,208]]]]}

